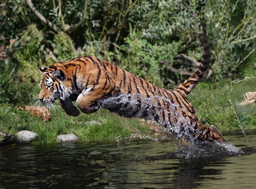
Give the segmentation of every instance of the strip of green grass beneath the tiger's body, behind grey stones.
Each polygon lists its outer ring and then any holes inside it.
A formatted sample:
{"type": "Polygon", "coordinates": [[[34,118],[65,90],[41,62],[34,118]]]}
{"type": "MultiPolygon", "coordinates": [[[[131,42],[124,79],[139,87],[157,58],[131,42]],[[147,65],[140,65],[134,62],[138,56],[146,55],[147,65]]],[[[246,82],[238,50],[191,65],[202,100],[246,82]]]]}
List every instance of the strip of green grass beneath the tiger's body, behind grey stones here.
{"type": "Polygon", "coordinates": [[[124,139],[131,133],[148,133],[148,128],[142,127],[138,119],[121,118],[103,109],[93,114],[81,113],[78,117],[71,117],[57,105],[56,111],[51,112],[51,115],[51,121],[44,122],[22,110],[1,104],[0,130],[11,134],[21,130],[33,131],[38,134],[36,141],[41,143],[55,142],[58,135],[69,133],[75,133],[81,141],[124,139]],[[103,124],[86,124],[90,120],[103,124]]]}

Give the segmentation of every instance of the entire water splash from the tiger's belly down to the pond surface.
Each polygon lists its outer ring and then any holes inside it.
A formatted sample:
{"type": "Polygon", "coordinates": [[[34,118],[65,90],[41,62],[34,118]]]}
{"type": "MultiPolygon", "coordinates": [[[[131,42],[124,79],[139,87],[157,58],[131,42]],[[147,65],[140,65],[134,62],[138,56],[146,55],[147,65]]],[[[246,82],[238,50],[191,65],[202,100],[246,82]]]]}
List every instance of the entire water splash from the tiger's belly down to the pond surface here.
{"type": "MultiPolygon", "coordinates": [[[[100,102],[104,109],[115,112],[124,117],[144,117],[145,119],[155,120],[165,127],[165,130],[173,133],[174,138],[186,141],[179,144],[177,157],[181,158],[199,158],[199,157],[212,157],[216,154],[220,155],[234,155],[242,154],[242,151],[235,146],[228,143],[208,142],[208,141],[196,141],[192,135],[192,128],[190,120],[183,116],[183,112],[175,110],[175,107],[180,107],[180,104],[173,103],[170,99],[162,96],[151,96],[150,98],[143,97],[140,94],[121,94],[111,96],[106,99],[102,99],[100,102]],[[159,100],[164,100],[169,103],[170,108],[166,110],[165,107],[160,106],[159,100]],[[138,105],[140,104],[140,106],[138,105]],[[146,113],[145,113],[146,112],[146,113]],[[163,112],[171,114],[171,120],[166,121],[161,115],[163,112]],[[203,142],[203,143],[200,143],[203,142]]],[[[181,107],[180,107],[181,108],[181,107]]],[[[181,108],[182,111],[185,111],[181,108]]],[[[125,128],[130,128],[129,122],[121,121],[125,128]]],[[[157,140],[149,135],[143,136],[134,129],[129,129],[141,139],[157,140]]]]}

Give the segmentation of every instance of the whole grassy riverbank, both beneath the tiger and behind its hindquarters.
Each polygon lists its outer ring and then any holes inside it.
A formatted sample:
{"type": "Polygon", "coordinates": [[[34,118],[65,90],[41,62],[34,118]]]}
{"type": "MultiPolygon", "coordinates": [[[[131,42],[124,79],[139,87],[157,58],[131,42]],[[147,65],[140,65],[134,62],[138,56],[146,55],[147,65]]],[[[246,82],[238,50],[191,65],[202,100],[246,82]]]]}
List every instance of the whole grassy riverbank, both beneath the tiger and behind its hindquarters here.
{"type": "MultiPolygon", "coordinates": [[[[207,126],[214,124],[225,135],[241,133],[229,101],[230,89],[227,79],[216,83],[201,82],[189,95],[201,122],[207,126]]],[[[38,135],[36,143],[56,142],[58,135],[69,133],[75,133],[80,141],[122,140],[133,134],[147,136],[150,133],[147,124],[140,119],[123,118],[103,109],[93,114],[81,113],[78,117],[71,117],[55,103],[55,110],[50,111],[51,121],[45,122],[9,104],[1,104],[0,107],[0,130],[10,134],[22,130],[33,131],[38,135]]],[[[255,130],[256,127],[252,123],[246,129],[255,130]]]]}

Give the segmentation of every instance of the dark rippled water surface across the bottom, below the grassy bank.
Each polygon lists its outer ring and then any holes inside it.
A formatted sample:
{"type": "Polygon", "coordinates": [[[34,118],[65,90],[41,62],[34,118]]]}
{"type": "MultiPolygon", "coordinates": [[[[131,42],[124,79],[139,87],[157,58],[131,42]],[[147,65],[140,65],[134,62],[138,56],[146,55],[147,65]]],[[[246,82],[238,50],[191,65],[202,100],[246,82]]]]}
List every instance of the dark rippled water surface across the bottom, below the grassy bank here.
{"type": "Polygon", "coordinates": [[[0,188],[256,188],[256,137],[225,138],[249,153],[186,159],[152,140],[4,147],[0,188]]]}

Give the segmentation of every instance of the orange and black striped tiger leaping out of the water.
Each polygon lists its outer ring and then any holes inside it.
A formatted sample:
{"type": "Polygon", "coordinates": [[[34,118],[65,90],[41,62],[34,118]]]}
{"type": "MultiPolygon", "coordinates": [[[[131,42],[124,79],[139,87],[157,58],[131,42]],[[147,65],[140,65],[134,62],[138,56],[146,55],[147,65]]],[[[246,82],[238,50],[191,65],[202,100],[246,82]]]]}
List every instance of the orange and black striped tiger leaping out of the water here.
{"type": "Polygon", "coordinates": [[[188,95],[207,71],[210,45],[203,27],[203,55],[192,75],[172,90],[159,88],[143,78],[95,56],[76,57],[39,68],[42,74],[38,98],[47,107],[56,99],[67,115],[91,114],[103,109],[124,117],[151,119],[181,138],[226,143],[214,127],[203,125],[188,95]],[[76,101],[75,107],[72,101],[76,101]]]}

